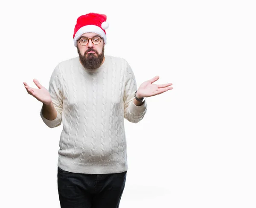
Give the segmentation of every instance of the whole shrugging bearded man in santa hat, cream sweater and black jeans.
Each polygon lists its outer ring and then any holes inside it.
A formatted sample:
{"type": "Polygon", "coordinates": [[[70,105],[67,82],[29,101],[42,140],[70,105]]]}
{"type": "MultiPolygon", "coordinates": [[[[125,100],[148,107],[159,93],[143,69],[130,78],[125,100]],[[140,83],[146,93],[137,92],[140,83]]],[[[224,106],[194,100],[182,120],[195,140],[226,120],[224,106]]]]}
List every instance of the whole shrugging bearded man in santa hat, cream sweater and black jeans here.
{"type": "Polygon", "coordinates": [[[79,57],[59,63],[49,91],[25,88],[43,103],[44,123],[63,123],[58,151],[58,193],[61,208],[118,208],[128,170],[124,118],[137,123],[147,110],[146,97],[171,90],[172,84],[137,89],[125,59],[104,55],[106,15],[89,13],[77,19],[74,45],[79,57]]]}

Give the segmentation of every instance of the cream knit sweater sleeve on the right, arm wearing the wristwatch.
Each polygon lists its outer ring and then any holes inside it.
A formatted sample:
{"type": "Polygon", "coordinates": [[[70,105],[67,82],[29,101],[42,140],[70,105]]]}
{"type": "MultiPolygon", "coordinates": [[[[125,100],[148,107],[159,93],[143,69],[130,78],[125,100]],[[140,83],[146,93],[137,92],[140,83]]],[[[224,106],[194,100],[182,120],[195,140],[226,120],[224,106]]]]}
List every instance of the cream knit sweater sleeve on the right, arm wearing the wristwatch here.
{"type": "Polygon", "coordinates": [[[134,104],[134,93],[137,91],[137,83],[131,66],[126,62],[125,92],[124,92],[124,118],[132,123],[141,121],[147,111],[147,103],[140,106],[134,104]]]}

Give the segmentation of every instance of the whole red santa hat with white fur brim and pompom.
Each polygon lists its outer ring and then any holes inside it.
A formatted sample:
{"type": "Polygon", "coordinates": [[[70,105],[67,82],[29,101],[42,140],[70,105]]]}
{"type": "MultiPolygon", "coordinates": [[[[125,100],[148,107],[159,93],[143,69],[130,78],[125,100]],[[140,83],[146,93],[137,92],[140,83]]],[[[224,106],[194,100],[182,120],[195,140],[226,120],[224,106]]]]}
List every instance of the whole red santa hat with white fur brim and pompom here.
{"type": "Polygon", "coordinates": [[[86,32],[93,32],[100,35],[104,43],[107,43],[105,29],[108,29],[107,16],[105,14],[88,13],[77,18],[74,29],[74,45],[77,46],[77,40],[86,32]]]}

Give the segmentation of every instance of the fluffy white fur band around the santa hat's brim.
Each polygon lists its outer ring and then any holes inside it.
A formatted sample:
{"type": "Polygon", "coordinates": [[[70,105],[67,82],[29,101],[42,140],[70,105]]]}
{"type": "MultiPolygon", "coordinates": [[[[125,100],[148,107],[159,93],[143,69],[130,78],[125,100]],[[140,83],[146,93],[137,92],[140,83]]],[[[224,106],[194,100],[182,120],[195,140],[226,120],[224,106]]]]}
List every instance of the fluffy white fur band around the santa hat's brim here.
{"type": "Polygon", "coordinates": [[[81,27],[76,32],[76,35],[74,37],[74,45],[75,46],[77,46],[77,40],[81,37],[81,35],[83,35],[84,33],[87,33],[87,32],[93,32],[93,33],[100,35],[103,38],[104,43],[105,44],[107,43],[107,36],[106,36],[105,32],[100,27],[98,27],[96,25],[86,25],[86,26],[81,27]]]}

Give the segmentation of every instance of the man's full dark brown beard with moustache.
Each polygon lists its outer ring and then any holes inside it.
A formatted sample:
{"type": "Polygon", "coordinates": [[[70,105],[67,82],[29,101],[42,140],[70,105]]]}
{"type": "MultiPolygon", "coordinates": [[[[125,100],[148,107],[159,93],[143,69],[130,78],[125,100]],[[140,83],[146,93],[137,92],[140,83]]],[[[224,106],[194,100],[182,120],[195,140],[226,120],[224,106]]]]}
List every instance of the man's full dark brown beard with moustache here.
{"type": "Polygon", "coordinates": [[[104,46],[102,48],[101,54],[99,54],[95,49],[88,49],[84,52],[84,55],[81,55],[81,52],[78,47],[77,52],[79,54],[81,64],[84,66],[84,68],[87,69],[98,69],[99,66],[101,66],[102,61],[104,59],[104,46]],[[95,53],[87,54],[87,52],[89,51],[94,51],[95,53]]]}

